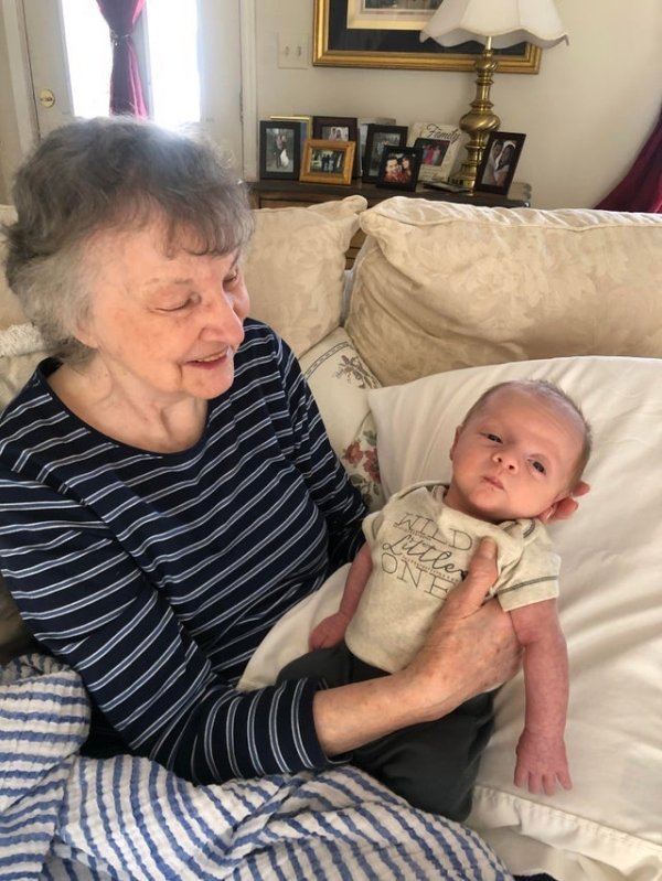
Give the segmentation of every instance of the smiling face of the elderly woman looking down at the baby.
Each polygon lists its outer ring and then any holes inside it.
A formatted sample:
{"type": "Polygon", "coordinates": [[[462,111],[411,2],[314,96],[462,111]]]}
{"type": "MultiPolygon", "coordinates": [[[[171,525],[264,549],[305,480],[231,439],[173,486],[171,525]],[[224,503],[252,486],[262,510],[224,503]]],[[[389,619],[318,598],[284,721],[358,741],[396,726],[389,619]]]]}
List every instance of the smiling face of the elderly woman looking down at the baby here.
{"type": "Polygon", "coordinates": [[[233,383],[248,313],[237,258],[196,256],[179,243],[168,254],[159,223],[100,233],[86,251],[94,289],[76,335],[137,398],[216,397],[233,383]]]}

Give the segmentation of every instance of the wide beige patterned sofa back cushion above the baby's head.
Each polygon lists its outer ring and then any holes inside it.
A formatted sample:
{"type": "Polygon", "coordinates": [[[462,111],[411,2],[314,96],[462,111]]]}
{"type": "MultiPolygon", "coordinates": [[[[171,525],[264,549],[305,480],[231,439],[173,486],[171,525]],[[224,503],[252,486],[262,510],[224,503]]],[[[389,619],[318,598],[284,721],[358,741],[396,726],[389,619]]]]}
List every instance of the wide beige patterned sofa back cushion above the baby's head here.
{"type": "Polygon", "coordinates": [[[395,196],[361,227],[345,326],[384,385],[528,358],[662,356],[662,216],[395,196]]]}

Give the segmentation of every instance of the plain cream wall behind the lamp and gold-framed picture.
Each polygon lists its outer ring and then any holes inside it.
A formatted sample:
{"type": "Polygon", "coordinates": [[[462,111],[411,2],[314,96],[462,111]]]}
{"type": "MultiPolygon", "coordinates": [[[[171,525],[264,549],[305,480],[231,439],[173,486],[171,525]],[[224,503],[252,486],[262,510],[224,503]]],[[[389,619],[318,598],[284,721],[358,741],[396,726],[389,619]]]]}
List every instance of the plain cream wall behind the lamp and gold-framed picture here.
{"type": "MultiPolygon", "coordinates": [[[[661,0],[556,0],[569,33],[543,52],[538,75],[495,75],[491,98],[504,131],[526,133],[515,178],[536,207],[590,207],[630,168],[662,99],[661,0]]],[[[257,111],[388,116],[456,122],[474,76],[447,71],[280,69],[277,33],[310,34],[312,0],[257,2],[257,111]]]]}

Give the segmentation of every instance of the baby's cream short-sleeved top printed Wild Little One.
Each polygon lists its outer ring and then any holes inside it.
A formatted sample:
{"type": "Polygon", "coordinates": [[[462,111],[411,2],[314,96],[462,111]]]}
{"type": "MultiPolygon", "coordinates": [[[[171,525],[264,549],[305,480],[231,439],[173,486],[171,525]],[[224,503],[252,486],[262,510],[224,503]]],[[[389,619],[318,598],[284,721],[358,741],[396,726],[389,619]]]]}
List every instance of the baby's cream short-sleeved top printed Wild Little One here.
{"type": "Polygon", "coordinates": [[[540,520],[480,520],[449,508],[447,488],[438,482],[412,484],[363,522],[373,568],[345,643],[361,660],[387,673],[414,657],[482,538],[496,542],[499,578],[490,595],[506,612],[558,595],[560,560],[540,520]]]}

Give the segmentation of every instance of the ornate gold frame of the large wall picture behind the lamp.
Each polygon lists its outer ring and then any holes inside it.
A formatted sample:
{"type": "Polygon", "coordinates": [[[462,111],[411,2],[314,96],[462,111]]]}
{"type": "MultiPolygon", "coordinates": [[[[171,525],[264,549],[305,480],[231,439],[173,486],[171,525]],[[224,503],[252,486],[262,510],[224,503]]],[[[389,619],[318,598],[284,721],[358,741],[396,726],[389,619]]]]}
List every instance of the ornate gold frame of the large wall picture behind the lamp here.
{"type": "MultiPolygon", "coordinates": [[[[314,0],[312,63],[322,67],[384,67],[410,71],[474,71],[480,53],[378,52],[333,49],[329,45],[332,6],[344,0],[314,0]]],[[[375,29],[373,29],[375,30],[375,29]]],[[[389,31],[394,34],[404,30],[389,31]]],[[[394,37],[396,39],[396,37],[394,37]]],[[[440,47],[439,47],[440,49],[440,47]]],[[[537,74],[542,50],[526,43],[523,54],[495,53],[500,74],[537,74]]]]}

